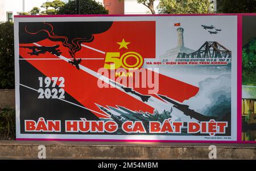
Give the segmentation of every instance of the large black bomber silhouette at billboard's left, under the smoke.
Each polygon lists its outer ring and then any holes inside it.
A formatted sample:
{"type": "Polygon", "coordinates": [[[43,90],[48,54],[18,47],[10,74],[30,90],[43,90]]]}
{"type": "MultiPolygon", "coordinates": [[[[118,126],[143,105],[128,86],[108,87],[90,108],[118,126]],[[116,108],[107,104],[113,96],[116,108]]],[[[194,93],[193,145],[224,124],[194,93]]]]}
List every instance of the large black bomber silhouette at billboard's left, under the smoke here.
{"type": "Polygon", "coordinates": [[[51,54],[59,56],[61,54],[59,48],[60,45],[55,46],[19,46],[20,48],[28,48],[31,49],[32,52],[29,54],[31,55],[39,55],[39,54],[45,54],[46,52],[49,52],[51,54]]]}

